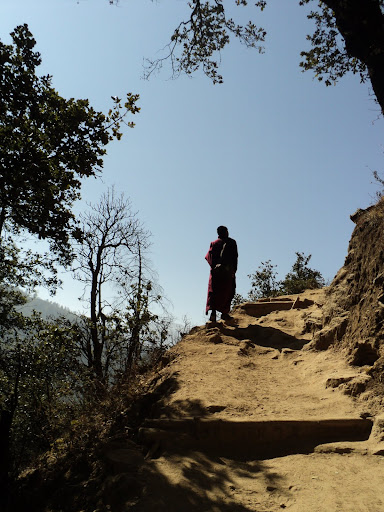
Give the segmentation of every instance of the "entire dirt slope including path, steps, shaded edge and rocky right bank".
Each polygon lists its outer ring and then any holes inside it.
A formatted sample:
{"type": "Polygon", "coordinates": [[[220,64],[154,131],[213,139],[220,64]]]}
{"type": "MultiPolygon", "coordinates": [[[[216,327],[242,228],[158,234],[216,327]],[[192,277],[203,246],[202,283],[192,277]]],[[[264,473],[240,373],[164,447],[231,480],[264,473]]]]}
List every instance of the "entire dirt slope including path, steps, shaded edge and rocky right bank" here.
{"type": "Polygon", "coordinates": [[[328,288],[192,329],[81,459],[27,475],[18,510],[384,512],[383,218],[383,201],[352,216],[328,288]]]}

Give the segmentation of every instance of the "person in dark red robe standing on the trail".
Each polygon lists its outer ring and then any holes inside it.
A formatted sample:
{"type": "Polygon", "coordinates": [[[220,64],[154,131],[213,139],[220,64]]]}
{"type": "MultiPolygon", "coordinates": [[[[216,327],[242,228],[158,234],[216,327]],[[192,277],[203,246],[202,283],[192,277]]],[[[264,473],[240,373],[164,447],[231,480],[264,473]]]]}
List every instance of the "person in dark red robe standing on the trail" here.
{"type": "Polygon", "coordinates": [[[211,271],[209,273],[208,297],[205,314],[211,310],[209,320],[216,322],[216,311],[220,311],[221,319],[231,318],[231,301],[236,291],[237,244],[229,238],[225,226],[217,228],[218,238],[211,242],[205,259],[211,271]]]}

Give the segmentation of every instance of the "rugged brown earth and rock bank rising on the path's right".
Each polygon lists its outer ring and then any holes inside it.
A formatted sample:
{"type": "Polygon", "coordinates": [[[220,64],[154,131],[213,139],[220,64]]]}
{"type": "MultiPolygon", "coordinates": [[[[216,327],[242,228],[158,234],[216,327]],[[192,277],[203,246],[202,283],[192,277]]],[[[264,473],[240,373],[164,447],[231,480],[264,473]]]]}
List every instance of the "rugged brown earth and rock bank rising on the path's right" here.
{"type": "Polygon", "coordinates": [[[333,345],[351,365],[367,366],[367,389],[384,396],[384,200],[351,219],[356,227],[348,255],[327,290],[322,329],[312,345],[333,345]]]}

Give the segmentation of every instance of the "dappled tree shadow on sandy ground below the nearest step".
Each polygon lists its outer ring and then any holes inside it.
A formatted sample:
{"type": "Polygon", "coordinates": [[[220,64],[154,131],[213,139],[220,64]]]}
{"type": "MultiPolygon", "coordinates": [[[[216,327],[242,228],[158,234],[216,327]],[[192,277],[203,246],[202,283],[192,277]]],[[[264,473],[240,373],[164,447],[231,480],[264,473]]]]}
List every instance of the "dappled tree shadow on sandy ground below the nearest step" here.
{"type": "Polygon", "coordinates": [[[284,479],[260,461],[233,461],[199,452],[149,461],[135,512],[255,512],[266,510],[260,491],[284,493],[284,479]],[[239,503],[238,495],[248,503],[239,503]],[[264,505],[264,506],[263,506],[264,505]]]}

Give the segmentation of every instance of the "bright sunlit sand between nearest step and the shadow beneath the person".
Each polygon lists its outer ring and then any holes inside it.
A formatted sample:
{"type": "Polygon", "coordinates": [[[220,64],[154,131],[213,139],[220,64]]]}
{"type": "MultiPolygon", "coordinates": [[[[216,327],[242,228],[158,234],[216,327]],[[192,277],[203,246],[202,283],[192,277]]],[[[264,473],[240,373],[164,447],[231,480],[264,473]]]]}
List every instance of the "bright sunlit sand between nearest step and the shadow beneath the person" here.
{"type": "Polygon", "coordinates": [[[177,347],[171,368],[178,388],[164,402],[163,415],[196,417],[211,410],[222,419],[356,416],[346,395],[325,387],[328,378],[351,373],[335,354],[246,347],[226,336],[218,343],[213,332],[199,331],[177,347]]]}

